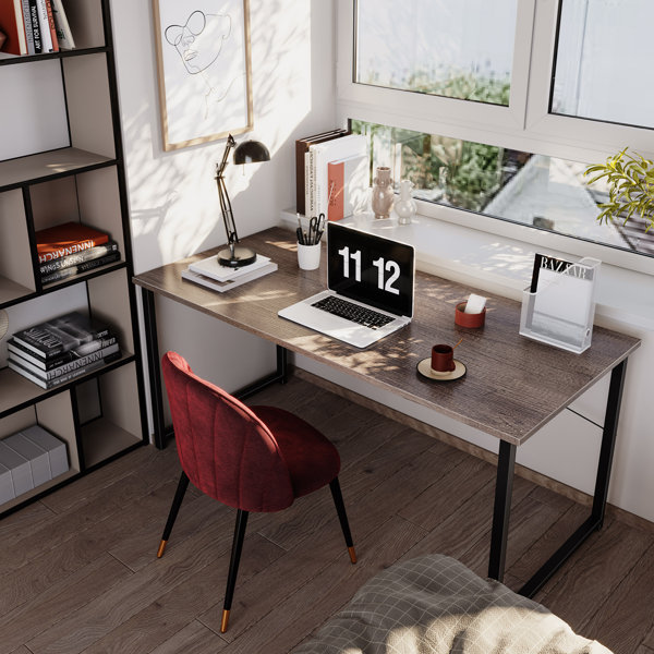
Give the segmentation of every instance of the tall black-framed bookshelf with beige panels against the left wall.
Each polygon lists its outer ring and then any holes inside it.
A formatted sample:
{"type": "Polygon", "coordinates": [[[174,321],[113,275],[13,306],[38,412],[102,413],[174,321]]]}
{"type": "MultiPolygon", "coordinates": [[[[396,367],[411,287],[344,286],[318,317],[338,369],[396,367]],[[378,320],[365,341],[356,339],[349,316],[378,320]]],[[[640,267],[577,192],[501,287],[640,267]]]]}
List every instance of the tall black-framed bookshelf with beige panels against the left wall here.
{"type": "Polygon", "coordinates": [[[147,443],[110,2],[64,0],[64,8],[76,49],[0,56],[3,97],[36,97],[34,86],[47,80],[52,98],[40,111],[43,133],[12,124],[15,137],[2,149],[10,158],[0,161],[0,310],[9,317],[0,339],[0,439],[39,424],[66,444],[70,470],[0,504],[0,518],[147,443]],[[70,220],[109,232],[121,257],[44,284],[35,232],[70,220]],[[122,355],[44,390],[8,367],[7,339],[68,311],[111,324],[122,355]]]}

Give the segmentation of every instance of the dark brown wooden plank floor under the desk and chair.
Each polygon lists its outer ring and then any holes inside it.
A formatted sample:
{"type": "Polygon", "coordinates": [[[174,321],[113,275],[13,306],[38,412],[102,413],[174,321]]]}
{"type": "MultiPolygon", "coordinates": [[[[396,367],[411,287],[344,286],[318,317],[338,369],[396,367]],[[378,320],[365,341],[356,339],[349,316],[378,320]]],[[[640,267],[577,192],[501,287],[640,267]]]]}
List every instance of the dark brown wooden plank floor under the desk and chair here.
{"type": "MultiPolygon", "coordinates": [[[[173,447],[144,447],[0,521],[0,654],[282,654],[400,558],[444,553],[485,576],[491,463],[298,378],[263,402],[338,446],[355,566],[328,489],[252,514],[219,635],[235,511],[190,489],[156,559],[179,463],[173,447]]],[[[583,511],[517,477],[507,584],[518,588],[583,511]]],[[[654,531],[607,519],[536,600],[616,653],[654,654],[654,531]]]]}

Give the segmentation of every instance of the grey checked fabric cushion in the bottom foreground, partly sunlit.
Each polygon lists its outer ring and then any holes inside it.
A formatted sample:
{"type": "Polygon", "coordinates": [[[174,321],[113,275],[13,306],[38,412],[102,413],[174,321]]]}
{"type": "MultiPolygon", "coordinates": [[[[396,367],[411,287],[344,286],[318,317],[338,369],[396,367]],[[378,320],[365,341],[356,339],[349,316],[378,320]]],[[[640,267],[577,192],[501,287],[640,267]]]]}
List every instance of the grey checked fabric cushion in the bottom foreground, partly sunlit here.
{"type": "Polygon", "coordinates": [[[395,564],[292,654],[610,654],[544,606],[463,564],[395,564]]]}

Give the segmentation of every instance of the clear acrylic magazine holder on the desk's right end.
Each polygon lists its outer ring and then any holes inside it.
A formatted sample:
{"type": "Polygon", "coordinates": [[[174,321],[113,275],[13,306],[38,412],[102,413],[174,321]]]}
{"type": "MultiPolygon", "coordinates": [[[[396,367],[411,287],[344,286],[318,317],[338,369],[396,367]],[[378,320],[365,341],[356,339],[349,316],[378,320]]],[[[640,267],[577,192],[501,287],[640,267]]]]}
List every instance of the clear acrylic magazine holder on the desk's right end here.
{"type": "Polygon", "coordinates": [[[522,292],[520,334],[580,354],[591,347],[598,259],[585,257],[522,292]]]}

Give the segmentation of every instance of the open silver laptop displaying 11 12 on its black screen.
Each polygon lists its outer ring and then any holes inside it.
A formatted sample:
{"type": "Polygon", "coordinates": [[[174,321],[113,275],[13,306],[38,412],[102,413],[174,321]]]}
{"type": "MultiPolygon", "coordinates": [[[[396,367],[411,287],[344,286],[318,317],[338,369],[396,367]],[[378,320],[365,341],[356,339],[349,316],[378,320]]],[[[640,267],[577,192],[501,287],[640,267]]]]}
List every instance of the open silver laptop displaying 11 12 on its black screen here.
{"type": "Polygon", "coordinates": [[[327,223],[327,290],[278,315],[356,348],[367,348],[413,317],[415,251],[327,223]]]}

